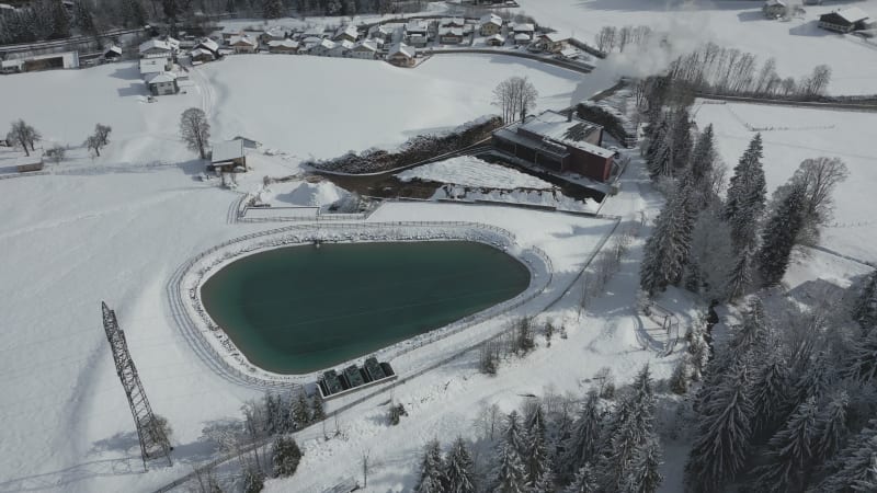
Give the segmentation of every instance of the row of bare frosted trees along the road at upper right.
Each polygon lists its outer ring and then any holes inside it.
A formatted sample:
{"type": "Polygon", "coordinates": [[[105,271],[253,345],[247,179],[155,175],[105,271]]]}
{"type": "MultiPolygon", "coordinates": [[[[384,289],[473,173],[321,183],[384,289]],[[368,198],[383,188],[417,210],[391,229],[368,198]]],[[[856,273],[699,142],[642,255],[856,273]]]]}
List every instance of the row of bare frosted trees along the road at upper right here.
{"type": "Polygon", "coordinates": [[[776,72],[776,60],[768,58],[759,66],[751,53],[707,43],[701,49],[680,56],[670,64],[667,78],[674,85],[718,94],[817,99],[824,94],[831,80],[831,68],[819,65],[795,80],[776,72]]]}

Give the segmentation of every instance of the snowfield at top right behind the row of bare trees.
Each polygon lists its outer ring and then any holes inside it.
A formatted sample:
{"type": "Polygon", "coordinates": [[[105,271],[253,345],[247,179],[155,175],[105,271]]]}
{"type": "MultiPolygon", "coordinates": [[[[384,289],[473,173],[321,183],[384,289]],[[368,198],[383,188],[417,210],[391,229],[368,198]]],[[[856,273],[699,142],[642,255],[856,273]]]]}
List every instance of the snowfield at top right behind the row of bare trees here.
{"type": "MultiPolygon", "coordinates": [[[[739,0],[661,1],[661,0],[520,0],[521,10],[539,24],[565,31],[585,42],[604,25],[648,25],[669,33],[673,46],[668,56],[662,49],[646,55],[617,50],[600,61],[597,72],[610,70],[619,76],[648,76],[667,66],[680,54],[692,51],[706,42],[750,51],[760,61],[776,58],[781,77],[799,79],[813,67],[832,68],[831,94],[877,93],[877,44],[852,35],[838,35],[817,26],[820,14],[844,5],[827,2],[807,5],[804,20],[770,21],[761,12],[761,2],[739,0]]],[[[800,2],[798,2],[800,3],[800,2]]],[[[854,3],[872,19],[877,19],[877,0],[854,3]]]]}

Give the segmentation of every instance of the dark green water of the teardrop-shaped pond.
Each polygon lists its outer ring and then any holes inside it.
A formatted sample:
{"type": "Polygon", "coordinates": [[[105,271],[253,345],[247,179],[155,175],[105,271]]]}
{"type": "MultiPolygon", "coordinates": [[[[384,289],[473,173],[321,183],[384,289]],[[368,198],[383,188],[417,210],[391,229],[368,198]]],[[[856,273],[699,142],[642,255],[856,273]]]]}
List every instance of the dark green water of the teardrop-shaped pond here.
{"type": "Polygon", "coordinates": [[[246,256],[201,296],[250,362],[301,374],[443,326],[528,283],[523,264],[480,243],[322,244],[246,256]]]}

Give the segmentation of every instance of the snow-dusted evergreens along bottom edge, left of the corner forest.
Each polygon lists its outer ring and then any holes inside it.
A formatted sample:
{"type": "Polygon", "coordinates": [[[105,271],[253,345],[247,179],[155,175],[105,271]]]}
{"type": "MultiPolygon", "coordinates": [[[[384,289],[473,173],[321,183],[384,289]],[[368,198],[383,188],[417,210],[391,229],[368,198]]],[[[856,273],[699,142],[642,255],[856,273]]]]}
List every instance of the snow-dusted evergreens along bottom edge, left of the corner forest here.
{"type": "Polygon", "coordinates": [[[593,389],[578,410],[547,398],[508,415],[486,409],[476,443],[458,437],[444,455],[437,440],[426,444],[414,491],[653,492],[662,481],[653,387],[646,366],[615,402],[593,389]]]}

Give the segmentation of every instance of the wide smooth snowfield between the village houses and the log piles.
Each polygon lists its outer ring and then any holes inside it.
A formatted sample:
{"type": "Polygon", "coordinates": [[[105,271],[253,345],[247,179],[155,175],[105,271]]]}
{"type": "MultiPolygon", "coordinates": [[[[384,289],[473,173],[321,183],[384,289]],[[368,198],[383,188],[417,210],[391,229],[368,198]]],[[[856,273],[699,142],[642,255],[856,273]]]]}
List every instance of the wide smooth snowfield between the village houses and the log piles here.
{"type": "Polygon", "coordinates": [[[394,148],[498,112],[491,92],[527,76],[537,110],[566,107],[602,81],[535,61],[490,55],[434,57],[417,69],[374,60],[232,56],[197,68],[215,87],[214,135],[244,135],[299,159],[394,148]]]}

